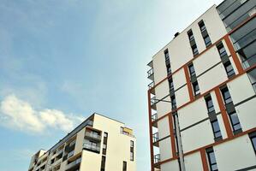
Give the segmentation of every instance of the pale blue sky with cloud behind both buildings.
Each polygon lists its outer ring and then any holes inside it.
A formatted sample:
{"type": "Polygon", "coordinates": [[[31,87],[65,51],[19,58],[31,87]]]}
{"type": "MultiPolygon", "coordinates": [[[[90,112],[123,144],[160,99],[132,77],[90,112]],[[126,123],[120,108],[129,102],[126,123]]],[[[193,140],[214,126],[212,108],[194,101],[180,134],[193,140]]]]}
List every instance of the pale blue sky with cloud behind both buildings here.
{"type": "Polygon", "coordinates": [[[0,171],[27,170],[97,112],[134,129],[150,170],[146,64],[222,0],[0,0],[0,171]]]}

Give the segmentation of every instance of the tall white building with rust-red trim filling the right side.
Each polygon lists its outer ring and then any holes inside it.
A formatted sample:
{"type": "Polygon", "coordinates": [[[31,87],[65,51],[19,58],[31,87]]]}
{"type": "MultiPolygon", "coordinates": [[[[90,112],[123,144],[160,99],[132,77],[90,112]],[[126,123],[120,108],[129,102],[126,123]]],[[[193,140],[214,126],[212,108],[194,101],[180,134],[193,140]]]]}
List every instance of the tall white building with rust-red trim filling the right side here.
{"type": "Polygon", "coordinates": [[[255,6],[212,6],[148,63],[152,170],[256,169],[255,6]]]}

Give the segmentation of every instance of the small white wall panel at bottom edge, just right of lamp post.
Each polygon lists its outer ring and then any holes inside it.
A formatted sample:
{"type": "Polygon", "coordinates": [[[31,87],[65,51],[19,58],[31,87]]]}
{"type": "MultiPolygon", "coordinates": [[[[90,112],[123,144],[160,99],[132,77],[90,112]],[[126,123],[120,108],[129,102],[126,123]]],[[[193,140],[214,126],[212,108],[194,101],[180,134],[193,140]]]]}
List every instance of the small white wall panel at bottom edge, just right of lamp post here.
{"type": "Polygon", "coordinates": [[[200,152],[195,152],[191,155],[184,156],[184,163],[186,171],[200,171],[204,170],[200,152]]]}

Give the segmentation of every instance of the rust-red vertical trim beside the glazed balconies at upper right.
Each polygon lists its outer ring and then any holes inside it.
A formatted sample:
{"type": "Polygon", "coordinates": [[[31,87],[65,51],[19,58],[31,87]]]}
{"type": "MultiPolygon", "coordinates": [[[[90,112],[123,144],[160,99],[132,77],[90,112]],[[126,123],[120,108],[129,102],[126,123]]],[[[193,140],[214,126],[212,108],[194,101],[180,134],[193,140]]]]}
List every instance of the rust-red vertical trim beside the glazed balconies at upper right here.
{"type": "Polygon", "coordinates": [[[230,41],[229,34],[224,36],[224,40],[229,48],[229,52],[233,58],[233,61],[235,62],[235,67],[237,68],[238,73],[241,74],[243,72],[243,68],[241,67],[241,62],[239,61],[239,58],[235,52],[234,46],[233,46],[232,42],[230,41]]]}

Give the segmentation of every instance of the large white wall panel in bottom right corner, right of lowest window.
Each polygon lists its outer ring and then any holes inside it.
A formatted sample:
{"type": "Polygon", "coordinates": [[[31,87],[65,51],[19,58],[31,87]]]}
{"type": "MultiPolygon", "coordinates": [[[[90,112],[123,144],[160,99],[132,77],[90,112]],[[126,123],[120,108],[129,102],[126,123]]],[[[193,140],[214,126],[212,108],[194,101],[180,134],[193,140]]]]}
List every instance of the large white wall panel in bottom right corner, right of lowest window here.
{"type": "Polygon", "coordinates": [[[247,135],[213,147],[218,170],[233,171],[256,163],[251,140],[247,135]]]}

